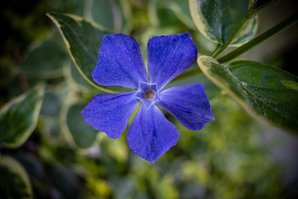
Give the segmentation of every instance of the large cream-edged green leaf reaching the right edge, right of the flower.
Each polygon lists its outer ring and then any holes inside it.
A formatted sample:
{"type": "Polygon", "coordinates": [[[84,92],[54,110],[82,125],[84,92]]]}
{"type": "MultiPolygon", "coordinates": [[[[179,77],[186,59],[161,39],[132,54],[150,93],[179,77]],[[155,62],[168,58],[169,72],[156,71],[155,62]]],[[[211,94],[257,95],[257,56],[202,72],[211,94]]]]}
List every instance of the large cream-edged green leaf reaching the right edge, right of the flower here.
{"type": "Polygon", "coordinates": [[[238,60],[229,68],[200,56],[204,74],[247,112],[270,123],[298,132],[298,77],[276,67],[238,60]]]}

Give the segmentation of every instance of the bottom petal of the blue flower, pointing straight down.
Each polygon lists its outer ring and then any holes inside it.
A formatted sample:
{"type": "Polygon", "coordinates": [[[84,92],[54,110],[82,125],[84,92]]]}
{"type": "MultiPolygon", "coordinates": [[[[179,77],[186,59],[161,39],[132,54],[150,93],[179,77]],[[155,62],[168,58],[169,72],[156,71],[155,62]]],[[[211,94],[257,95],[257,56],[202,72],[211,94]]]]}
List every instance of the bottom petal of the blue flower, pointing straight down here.
{"type": "Polygon", "coordinates": [[[152,163],[174,146],[178,138],[176,127],[154,104],[148,108],[142,104],[127,133],[129,147],[152,163]]]}

